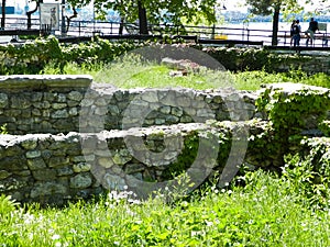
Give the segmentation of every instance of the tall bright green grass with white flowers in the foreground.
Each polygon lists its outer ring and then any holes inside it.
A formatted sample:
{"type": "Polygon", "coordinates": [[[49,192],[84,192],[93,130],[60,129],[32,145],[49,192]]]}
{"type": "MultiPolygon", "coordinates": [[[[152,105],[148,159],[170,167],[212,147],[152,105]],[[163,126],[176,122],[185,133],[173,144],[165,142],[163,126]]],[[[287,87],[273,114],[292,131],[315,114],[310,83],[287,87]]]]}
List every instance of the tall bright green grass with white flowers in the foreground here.
{"type": "Polygon", "coordinates": [[[329,246],[329,209],[314,210],[290,180],[264,171],[248,186],[213,186],[188,200],[107,198],[22,210],[0,198],[1,246],[329,246]],[[1,204],[2,202],[2,204],[1,204]]]}

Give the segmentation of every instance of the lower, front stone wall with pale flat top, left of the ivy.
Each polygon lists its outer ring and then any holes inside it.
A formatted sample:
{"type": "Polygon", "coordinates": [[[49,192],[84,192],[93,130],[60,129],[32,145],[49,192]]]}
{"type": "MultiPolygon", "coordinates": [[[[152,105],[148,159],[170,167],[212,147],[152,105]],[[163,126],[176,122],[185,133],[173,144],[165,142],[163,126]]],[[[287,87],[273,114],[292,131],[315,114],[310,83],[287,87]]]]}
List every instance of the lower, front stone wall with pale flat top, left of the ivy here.
{"type": "MultiPolygon", "coordinates": [[[[90,198],[105,188],[127,189],[145,197],[169,179],[173,162],[185,155],[183,143],[215,134],[216,130],[204,124],[183,124],[101,134],[4,135],[0,142],[0,192],[20,202],[57,205],[66,200],[90,198]],[[145,142],[148,151],[128,146],[127,136],[132,145],[140,144],[139,139],[145,142]],[[160,153],[164,139],[170,143],[169,149],[154,159],[147,157],[160,153]]],[[[211,159],[217,159],[217,155],[202,151],[195,165],[187,165],[197,186],[216,167],[211,159]]]]}

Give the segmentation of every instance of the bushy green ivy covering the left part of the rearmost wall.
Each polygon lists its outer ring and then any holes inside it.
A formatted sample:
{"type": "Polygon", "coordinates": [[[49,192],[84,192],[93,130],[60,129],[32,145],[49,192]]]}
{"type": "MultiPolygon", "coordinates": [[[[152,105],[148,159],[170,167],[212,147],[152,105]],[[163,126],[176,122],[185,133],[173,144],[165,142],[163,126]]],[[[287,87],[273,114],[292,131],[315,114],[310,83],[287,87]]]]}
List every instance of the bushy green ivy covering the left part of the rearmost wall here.
{"type": "Polygon", "coordinates": [[[0,75],[43,74],[50,66],[55,69],[51,71],[63,74],[64,67],[70,63],[94,69],[96,64],[100,66],[110,63],[116,57],[143,45],[131,42],[112,43],[100,38],[61,45],[55,36],[40,37],[19,46],[1,46],[3,60],[8,60],[7,64],[11,66],[0,66],[0,75]]]}

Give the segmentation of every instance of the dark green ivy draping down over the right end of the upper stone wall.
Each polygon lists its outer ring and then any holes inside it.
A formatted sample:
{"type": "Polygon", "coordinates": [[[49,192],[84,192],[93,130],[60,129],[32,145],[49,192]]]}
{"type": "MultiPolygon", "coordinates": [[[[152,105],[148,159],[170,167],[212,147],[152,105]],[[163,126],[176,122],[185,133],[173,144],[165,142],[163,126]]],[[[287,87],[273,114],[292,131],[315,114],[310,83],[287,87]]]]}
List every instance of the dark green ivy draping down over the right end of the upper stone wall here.
{"type": "MultiPolygon", "coordinates": [[[[302,130],[318,128],[330,109],[329,90],[304,87],[293,90],[294,83],[283,87],[268,86],[256,100],[257,111],[267,115],[274,130],[272,148],[275,157],[277,154],[277,161],[290,146],[299,145],[302,130]]],[[[258,142],[267,143],[267,139],[260,138],[258,142]]]]}

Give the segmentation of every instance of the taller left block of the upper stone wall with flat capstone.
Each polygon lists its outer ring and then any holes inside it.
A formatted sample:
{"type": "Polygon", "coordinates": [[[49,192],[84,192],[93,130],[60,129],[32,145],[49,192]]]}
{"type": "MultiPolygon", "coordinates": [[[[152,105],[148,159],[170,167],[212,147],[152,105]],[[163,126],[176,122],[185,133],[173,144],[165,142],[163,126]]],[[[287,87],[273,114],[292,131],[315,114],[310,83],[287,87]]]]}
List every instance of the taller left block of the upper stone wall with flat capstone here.
{"type": "Polygon", "coordinates": [[[80,102],[90,77],[0,77],[0,125],[9,134],[62,133],[78,130],[80,102]]]}

